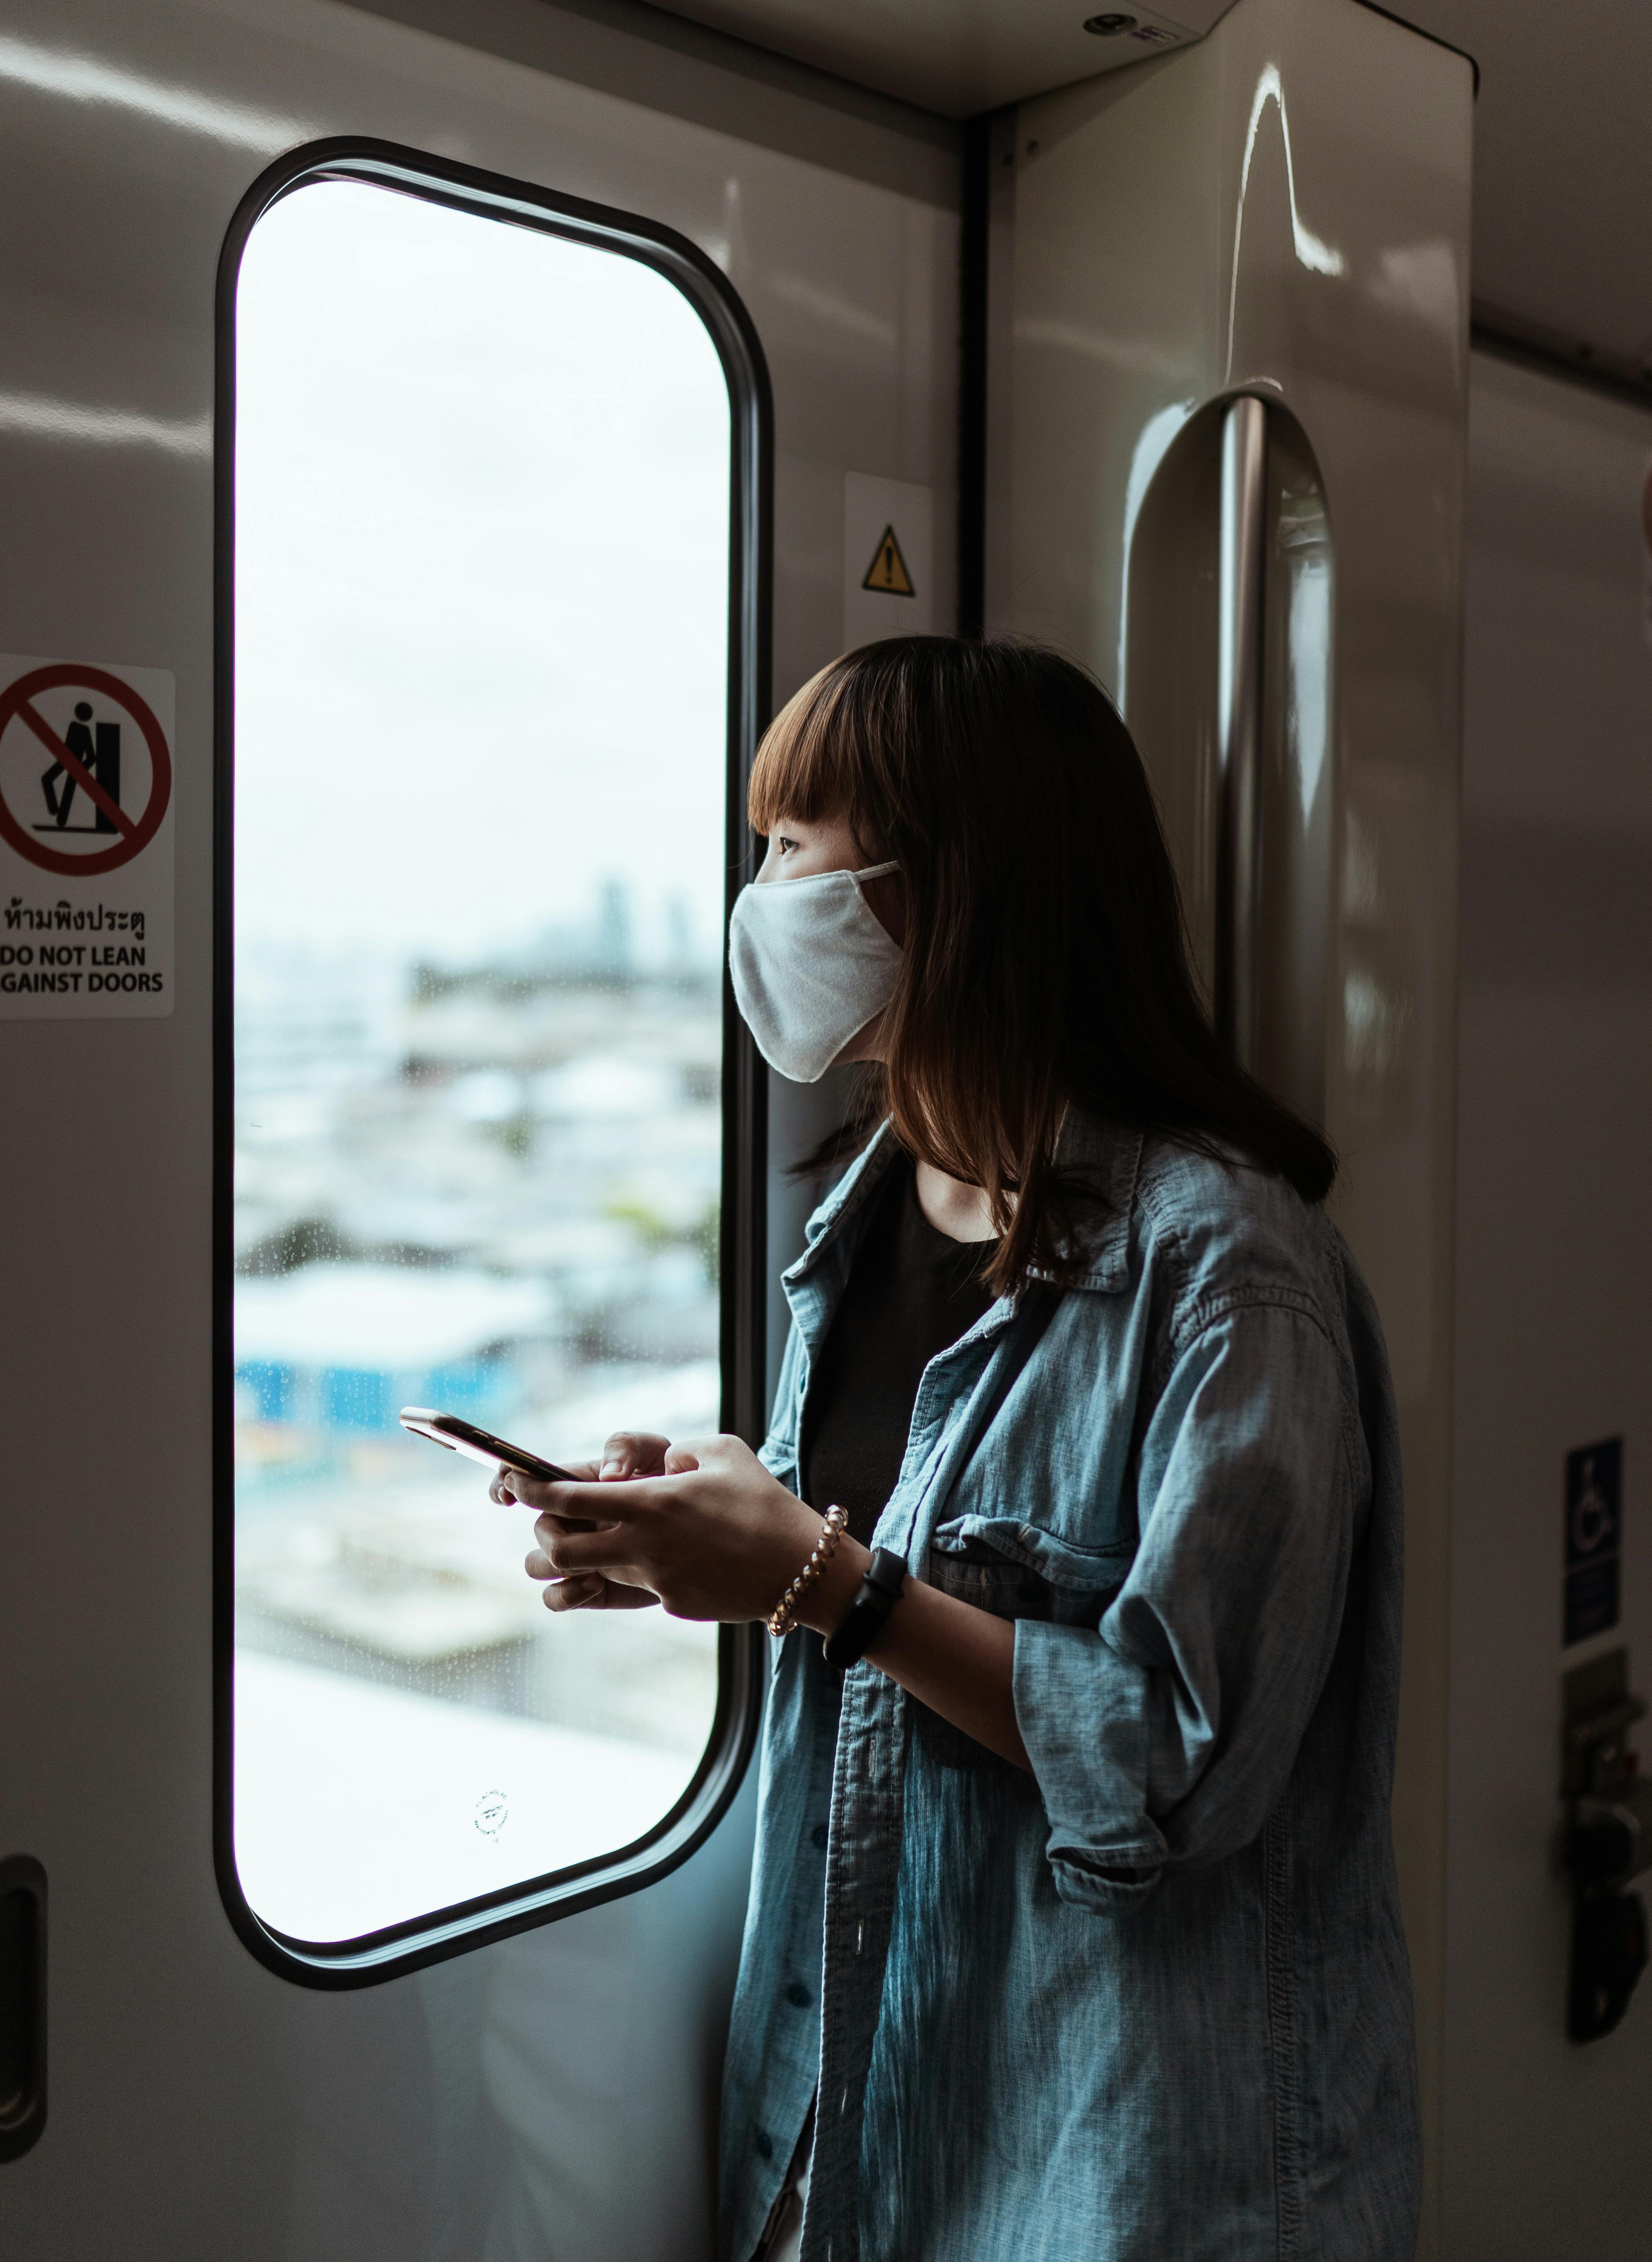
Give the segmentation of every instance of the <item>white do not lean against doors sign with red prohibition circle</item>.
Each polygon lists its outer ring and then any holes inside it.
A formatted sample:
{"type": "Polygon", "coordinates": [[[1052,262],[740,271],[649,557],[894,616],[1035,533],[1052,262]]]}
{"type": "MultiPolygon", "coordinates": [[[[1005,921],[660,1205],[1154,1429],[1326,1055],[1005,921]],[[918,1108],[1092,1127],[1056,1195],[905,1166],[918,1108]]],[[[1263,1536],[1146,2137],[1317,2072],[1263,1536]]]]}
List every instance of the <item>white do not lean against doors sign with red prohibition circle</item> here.
{"type": "Polygon", "coordinates": [[[172,1011],[172,676],[0,656],[0,1020],[172,1011]]]}

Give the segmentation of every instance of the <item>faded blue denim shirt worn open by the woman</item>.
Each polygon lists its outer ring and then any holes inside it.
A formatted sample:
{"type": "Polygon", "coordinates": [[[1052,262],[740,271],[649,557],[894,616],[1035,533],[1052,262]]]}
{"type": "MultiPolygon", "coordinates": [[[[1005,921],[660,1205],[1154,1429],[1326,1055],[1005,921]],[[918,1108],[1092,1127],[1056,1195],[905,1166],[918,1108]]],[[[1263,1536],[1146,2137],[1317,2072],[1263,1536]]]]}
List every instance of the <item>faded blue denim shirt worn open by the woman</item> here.
{"type": "MultiPolygon", "coordinates": [[[[765,1464],[887,1131],[785,1274],[765,1464]]],[[[1408,2262],[1389,1841],[1401,1477],[1369,1292],[1283,1181],[1068,1117],[1082,1278],[923,1373],[876,1545],[1016,1622],[1032,1773],[772,1647],[724,2070],[747,2262],[810,2101],[803,2262],[1408,2262]]]]}

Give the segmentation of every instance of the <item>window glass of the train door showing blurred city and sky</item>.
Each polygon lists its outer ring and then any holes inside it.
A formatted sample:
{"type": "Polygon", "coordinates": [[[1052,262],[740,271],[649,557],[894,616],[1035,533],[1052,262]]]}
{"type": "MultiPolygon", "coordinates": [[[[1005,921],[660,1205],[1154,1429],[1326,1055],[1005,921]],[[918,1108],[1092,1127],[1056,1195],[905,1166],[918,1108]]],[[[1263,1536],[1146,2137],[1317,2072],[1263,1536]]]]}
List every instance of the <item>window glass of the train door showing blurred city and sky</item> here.
{"type": "Polygon", "coordinates": [[[731,407],[654,269],[346,181],[235,369],[235,1862],[346,1941],[708,1742],[715,1629],[552,1620],[396,1411],[717,1425],[731,407]]]}

